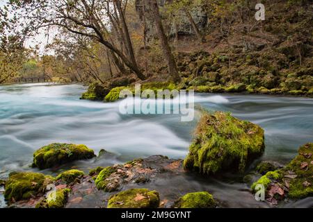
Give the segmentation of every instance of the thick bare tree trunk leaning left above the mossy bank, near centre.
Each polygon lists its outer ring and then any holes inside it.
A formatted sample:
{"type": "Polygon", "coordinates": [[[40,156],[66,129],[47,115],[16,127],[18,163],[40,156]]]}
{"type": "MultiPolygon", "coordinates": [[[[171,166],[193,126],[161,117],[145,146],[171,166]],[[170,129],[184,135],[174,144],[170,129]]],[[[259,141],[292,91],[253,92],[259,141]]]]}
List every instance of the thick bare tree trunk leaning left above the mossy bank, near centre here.
{"type": "Polygon", "coordinates": [[[157,26],[157,33],[159,35],[161,46],[163,50],[164,58],[166,59],[166,62],[168,63],[168,69],[170,72],[170,76],[172,76],[172,80],[177,83],[179,80],[181,80],[177,65],[174,56],[172,55],[172,51],[170,50],[170,45],[168,44],[168,38],[166,37],[166,34],[164,32],[163,24],[161,21],[161,16],[159,12],[159,6],[157,3],[157,0],[148,0],[150,2],[150,7],[152,9],[152,15],[154,17],[154,22],[157,26]]]}

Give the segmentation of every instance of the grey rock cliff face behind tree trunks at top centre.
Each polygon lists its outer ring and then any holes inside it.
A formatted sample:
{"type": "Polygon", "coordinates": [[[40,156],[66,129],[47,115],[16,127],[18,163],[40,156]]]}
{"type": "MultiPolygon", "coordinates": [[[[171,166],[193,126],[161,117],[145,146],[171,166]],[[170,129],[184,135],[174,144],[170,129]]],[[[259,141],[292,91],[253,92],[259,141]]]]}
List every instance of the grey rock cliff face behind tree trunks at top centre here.
{"type": "MultiPolygon", "coordinates": [[[[168,4],[172,3],[172,0],[158,0],[161,16],[163,17],[163,24],[165,25],[166,32],[169,36],[174,37],[178,33],[179,35],[194,35],[193,28],[191,23],[188,20],[188,17],[183,11],[177,13],[177,15],[168,16],[164,8],[168,4]]],[[[152,40],[157,36],[157,31],[154,28],[154,20],[151,16],[150,7],[147,3],[143,4],[143,0],[136,0],[136,12],[140,17],[141,21],[145,18],[145,26],[147,29],[147,39],[152,40]],[[143,10],[144,9],[144,10],[143,10]],[[143,12],[145,11],[145,17],[143,17],[143,12]]],[[[195,6],[190,11],[195,24],[198,25],[200,31],[208,25],[207,13],[202,9],[201,6],[195,6]]]]}

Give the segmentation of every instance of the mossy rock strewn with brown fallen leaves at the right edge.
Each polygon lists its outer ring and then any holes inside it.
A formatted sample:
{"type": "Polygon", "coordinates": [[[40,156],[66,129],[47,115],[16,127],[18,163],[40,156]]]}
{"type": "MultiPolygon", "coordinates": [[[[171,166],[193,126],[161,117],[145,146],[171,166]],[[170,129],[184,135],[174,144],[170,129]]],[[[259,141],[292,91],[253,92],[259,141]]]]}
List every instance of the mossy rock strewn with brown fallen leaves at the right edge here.
{"type": "Polygon", "coordinates": [[[257,185],[266,189],[266,198],[270,202],[313,196],[313,143],[301,146],[298,155],[283,169],[269,171],[251,186],[257,191],[257,185]]]}

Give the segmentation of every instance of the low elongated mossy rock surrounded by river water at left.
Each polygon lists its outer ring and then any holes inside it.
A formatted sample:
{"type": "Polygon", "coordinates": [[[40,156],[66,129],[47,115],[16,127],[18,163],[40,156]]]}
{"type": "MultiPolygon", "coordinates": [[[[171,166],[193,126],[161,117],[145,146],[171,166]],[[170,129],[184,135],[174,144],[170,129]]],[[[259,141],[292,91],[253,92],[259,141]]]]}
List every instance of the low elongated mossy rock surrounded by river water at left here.
{"type": "Polygon", "coordinates": [[[74,160],[86,160],[95,157],[92,149],[85,145],[50,144],[33,153],[33,167],[47,169],[74,160]]]}

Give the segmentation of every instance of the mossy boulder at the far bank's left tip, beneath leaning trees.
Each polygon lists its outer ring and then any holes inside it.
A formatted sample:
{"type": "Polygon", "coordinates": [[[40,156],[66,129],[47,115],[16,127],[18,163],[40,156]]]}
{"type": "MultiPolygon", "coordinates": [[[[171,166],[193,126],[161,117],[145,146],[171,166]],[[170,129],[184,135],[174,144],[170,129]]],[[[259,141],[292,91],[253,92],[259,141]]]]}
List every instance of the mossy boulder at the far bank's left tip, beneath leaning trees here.
{"type": "Polygon", "coordinates": [[[91,101],[103,101],[104,97],[110,92],[110,89],[102,86],[100,83],[91,83],[87,92],[84,92],[81,99],[91,101]]]}

